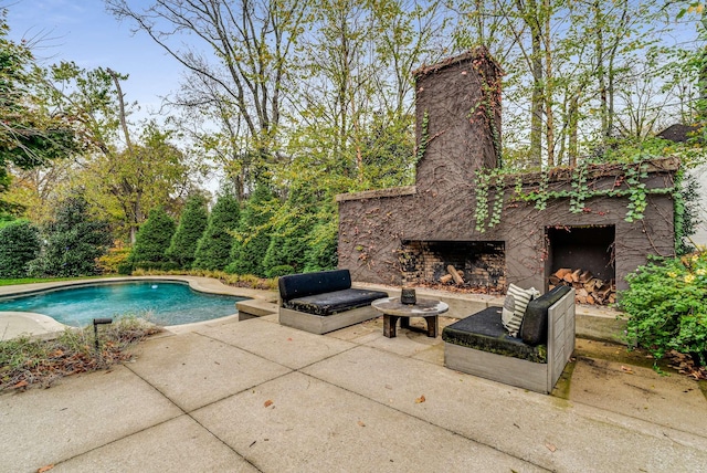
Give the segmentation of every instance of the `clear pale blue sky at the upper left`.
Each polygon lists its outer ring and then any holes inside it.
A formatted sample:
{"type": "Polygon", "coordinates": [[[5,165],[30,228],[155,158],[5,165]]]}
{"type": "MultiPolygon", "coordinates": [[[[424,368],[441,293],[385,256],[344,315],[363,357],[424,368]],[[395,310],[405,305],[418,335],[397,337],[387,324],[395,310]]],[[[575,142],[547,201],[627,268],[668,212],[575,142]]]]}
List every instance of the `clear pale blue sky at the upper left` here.
{"type": "MultiPolygon", "coordinates": [[[[130,6],[149,3],[133,0],[130,6]]],[[[40,39],[33,48],[42,65],[73,61],[80,67],[110,67],[129,74],[122,88],[138,102],[137,117],[159,112],[160,96],[178,88],[181,69],[144,32],[133,33],[105,10],[102,0],[0,0],[8,9],[10,39],[40,39]]]]}

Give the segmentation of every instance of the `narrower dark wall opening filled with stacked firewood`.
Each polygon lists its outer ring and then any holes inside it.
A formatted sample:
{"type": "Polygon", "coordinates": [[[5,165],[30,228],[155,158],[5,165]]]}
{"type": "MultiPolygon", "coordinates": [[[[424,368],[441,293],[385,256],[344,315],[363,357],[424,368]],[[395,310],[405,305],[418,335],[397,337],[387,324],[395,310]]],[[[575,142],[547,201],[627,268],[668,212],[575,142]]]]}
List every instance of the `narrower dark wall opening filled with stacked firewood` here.
{"type": "Polygon", "coordinates": [[[548,290],[572,286],[580,304],[616,301],[614,225],[549,227],[546,242],[548,290]]]}

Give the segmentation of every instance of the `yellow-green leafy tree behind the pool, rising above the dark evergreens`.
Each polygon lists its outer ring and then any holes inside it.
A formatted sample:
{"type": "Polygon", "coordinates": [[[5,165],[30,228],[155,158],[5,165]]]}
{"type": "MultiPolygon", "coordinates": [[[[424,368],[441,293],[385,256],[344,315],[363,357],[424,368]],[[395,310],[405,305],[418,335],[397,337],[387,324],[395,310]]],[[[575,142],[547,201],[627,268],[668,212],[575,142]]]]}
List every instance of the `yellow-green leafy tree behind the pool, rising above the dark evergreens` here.
{"type": "Polygon", "coordinates": [[[83,146],[76,180],[86,198],[135,242],[146,210],[181,199],[196,186],[197,169],[171,143],[173,132],[154,120],[143,124],[133,139],[130,107],[120,90],[125,80],[127,75],[109,69],[84,70],[63,62],[48,73],[53,88],[46,102],[73,117],[83,146]]]}

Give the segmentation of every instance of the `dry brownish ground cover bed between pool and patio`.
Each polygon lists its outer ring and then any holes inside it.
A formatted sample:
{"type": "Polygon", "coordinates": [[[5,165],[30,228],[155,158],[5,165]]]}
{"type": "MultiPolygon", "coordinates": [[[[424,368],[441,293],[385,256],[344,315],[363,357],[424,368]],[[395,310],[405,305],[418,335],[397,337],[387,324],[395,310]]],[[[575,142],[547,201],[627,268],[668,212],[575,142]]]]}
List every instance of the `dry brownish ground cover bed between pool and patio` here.
{"type": "Polygon", "coordinates": [[[99,327],[97,350],[91,326],[66,329],[49,340],[19,337],[0,341],[0,392],[49,388],[64,376],[107,369],[129,360],[133,346],[160,330],[144,318],[129,316],[99,327]]]}

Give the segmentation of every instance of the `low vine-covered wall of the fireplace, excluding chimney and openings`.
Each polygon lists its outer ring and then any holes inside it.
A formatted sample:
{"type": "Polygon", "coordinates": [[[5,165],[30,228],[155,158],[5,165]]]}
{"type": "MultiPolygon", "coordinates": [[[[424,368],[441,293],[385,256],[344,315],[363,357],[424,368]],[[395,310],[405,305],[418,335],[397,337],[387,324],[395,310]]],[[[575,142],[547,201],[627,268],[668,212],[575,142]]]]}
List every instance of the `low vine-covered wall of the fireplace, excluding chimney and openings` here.
{"type": "MultiPolygon", "coordinates": [[[[669,185],[669,175],[654,180],[669,185]]],[[[669,196],[648,198],[643,220],[624,220],[625,198],[587,201],[587,213],[571,213],[566,199],[548,202],[538,211],[529,203],[506,201],[502,223],[484,233],[474,220],[472,189],[453,196],[368,198],[339,202],[339,267],[348,267],[355,281],[401,284],[398,252],[405,240],[503,241],[506,278],[525,287],[546,286],[546,228],[615,225],[615,276],[619,290],[625,275],[646,263],[648,254],[674,255],[673,201],[669,196]]]]}

